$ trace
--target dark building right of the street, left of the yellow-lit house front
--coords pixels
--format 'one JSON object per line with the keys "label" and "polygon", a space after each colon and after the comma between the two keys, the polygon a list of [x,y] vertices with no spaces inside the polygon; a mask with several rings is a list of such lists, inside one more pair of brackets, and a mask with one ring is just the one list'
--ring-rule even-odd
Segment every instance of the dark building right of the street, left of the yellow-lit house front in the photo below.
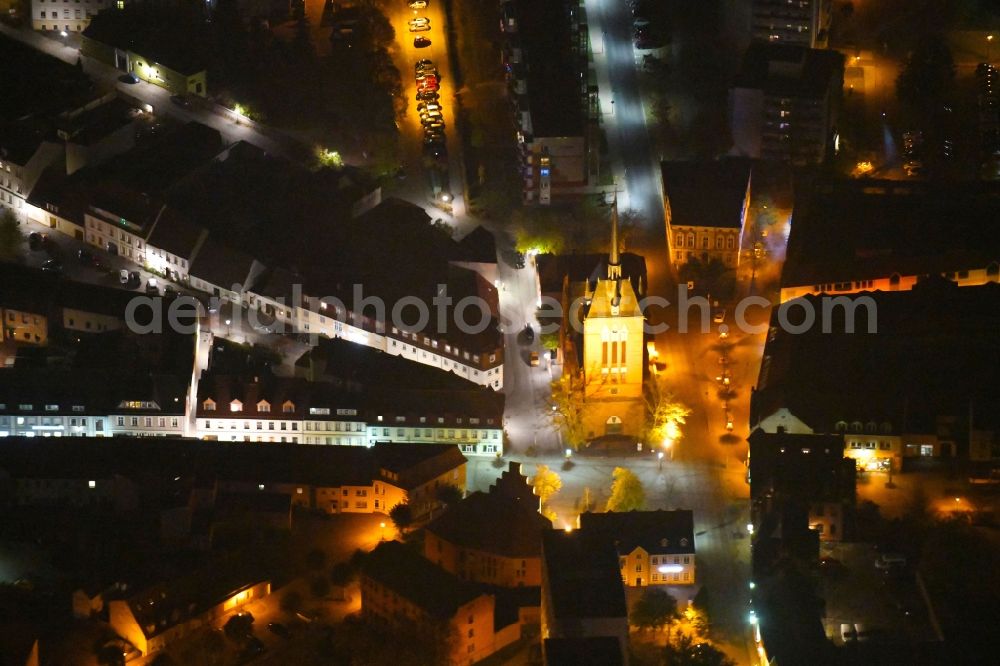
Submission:
{"label": "dark building right of the street, left of the yellow-lit house front", "polygon": [[841,541],[853,517],[855,462],[838,435],[750,433],[751,522],[794,505],[807,512],[822,541]]}

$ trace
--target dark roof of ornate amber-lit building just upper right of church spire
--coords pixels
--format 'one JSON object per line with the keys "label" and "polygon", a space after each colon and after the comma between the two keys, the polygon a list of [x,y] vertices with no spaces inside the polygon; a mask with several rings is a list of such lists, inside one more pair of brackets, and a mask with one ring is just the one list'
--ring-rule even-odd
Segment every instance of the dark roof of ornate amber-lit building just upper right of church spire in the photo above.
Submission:
{"label": "dark roof of ornate amber-lit building just upper right of church spire", "polygon": [[663,194],[672,225],[743,227],[750,189],[750,162],[662,162]]}

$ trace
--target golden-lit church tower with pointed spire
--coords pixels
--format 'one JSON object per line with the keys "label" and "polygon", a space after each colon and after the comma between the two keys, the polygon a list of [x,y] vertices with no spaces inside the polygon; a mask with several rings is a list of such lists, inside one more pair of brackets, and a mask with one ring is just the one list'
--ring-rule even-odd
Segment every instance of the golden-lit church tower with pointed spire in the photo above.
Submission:
{"label": "golden-lit church tower with pointed spire", "polygon": [[644,423],[642,310],[622,277],[618,202],[611,210],[606,277],[599,278],[583,320],[584,400],[592,436],[639,435]]}

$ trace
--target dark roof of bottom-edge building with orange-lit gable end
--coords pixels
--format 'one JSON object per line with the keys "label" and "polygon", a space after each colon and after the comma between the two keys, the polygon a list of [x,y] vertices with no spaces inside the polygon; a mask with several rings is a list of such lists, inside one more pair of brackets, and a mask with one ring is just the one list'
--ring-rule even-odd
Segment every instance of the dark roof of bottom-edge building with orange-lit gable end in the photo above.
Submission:
{"label": "dark roof of bottom-edge building with orange-lit gable end", "polygon": [[483,594],[478,586],[451,575],[398,541],[380,543],[365,558],[363,572],[442,620],[450,619],[460,607]]}

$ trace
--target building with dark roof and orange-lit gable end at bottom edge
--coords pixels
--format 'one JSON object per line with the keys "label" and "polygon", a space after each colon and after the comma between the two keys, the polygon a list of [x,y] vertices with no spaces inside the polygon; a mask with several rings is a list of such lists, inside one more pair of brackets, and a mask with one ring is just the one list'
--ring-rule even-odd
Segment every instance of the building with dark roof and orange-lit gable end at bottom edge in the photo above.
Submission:
{"label": "building with dark roof and orange-lit gable end at bottom edge", "polygon": [[[398,541],[378,545],[361,572],[361,613],[389,626],[405,625],[431,641],[447,641],[435,663],[474,664],[520,638],[495,627],[496,598],[458,579]],[[450,640],[449,640],[450,639]]]}

